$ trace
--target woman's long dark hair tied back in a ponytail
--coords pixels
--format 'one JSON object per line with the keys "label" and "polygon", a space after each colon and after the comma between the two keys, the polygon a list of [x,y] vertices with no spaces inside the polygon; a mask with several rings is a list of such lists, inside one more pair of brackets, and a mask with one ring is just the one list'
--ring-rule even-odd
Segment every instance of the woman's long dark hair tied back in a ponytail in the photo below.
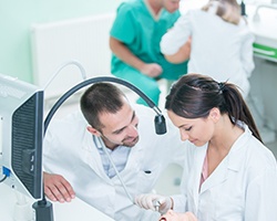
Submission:
{"label": "woman's long dark hair tied back in a ponytail", "polygon": [[234,84],[217,83],[201,74],[187,74],[173,84],[165,102],[166,109],[185,118],[205,118],[214,107],[222,114],[228,114],[234,125],[237,120],[244,122],[263,143],[249,108]]}

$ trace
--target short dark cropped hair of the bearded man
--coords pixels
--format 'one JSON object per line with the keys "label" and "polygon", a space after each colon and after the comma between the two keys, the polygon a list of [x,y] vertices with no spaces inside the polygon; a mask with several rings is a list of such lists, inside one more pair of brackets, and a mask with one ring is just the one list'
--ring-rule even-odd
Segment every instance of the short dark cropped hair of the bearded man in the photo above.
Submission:
{"label": "short dark cropped hair of the bearded man", "polygon": [[99,114],[115,114],[123,106],[123,92],[110,83],[96,83],[90,86],[81,97],[81,110],[86,122],[98,130],[104,125],[99,119]]}

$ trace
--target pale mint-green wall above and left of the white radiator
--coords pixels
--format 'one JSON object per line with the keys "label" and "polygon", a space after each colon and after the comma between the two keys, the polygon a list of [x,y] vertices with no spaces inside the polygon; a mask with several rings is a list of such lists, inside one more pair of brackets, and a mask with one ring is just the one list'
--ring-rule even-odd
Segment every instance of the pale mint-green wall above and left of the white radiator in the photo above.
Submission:
{"label": "pale mint-green wall above and left of the white radiator", "polygon": [[0,73],[32,83],[33,23],[113,12],[122,0],[0,0]]}

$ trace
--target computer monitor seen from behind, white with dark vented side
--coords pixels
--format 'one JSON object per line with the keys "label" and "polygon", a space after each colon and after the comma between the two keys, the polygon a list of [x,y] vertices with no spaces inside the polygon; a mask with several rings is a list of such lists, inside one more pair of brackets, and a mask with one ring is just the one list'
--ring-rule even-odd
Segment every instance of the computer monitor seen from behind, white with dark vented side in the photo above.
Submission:
{"label": "computer monitor seen from behind, white with dark vented side", "polygon": [[2,176],[7,176],[3,182],[40,199],[43,91],[0,74],[0,166]]}

